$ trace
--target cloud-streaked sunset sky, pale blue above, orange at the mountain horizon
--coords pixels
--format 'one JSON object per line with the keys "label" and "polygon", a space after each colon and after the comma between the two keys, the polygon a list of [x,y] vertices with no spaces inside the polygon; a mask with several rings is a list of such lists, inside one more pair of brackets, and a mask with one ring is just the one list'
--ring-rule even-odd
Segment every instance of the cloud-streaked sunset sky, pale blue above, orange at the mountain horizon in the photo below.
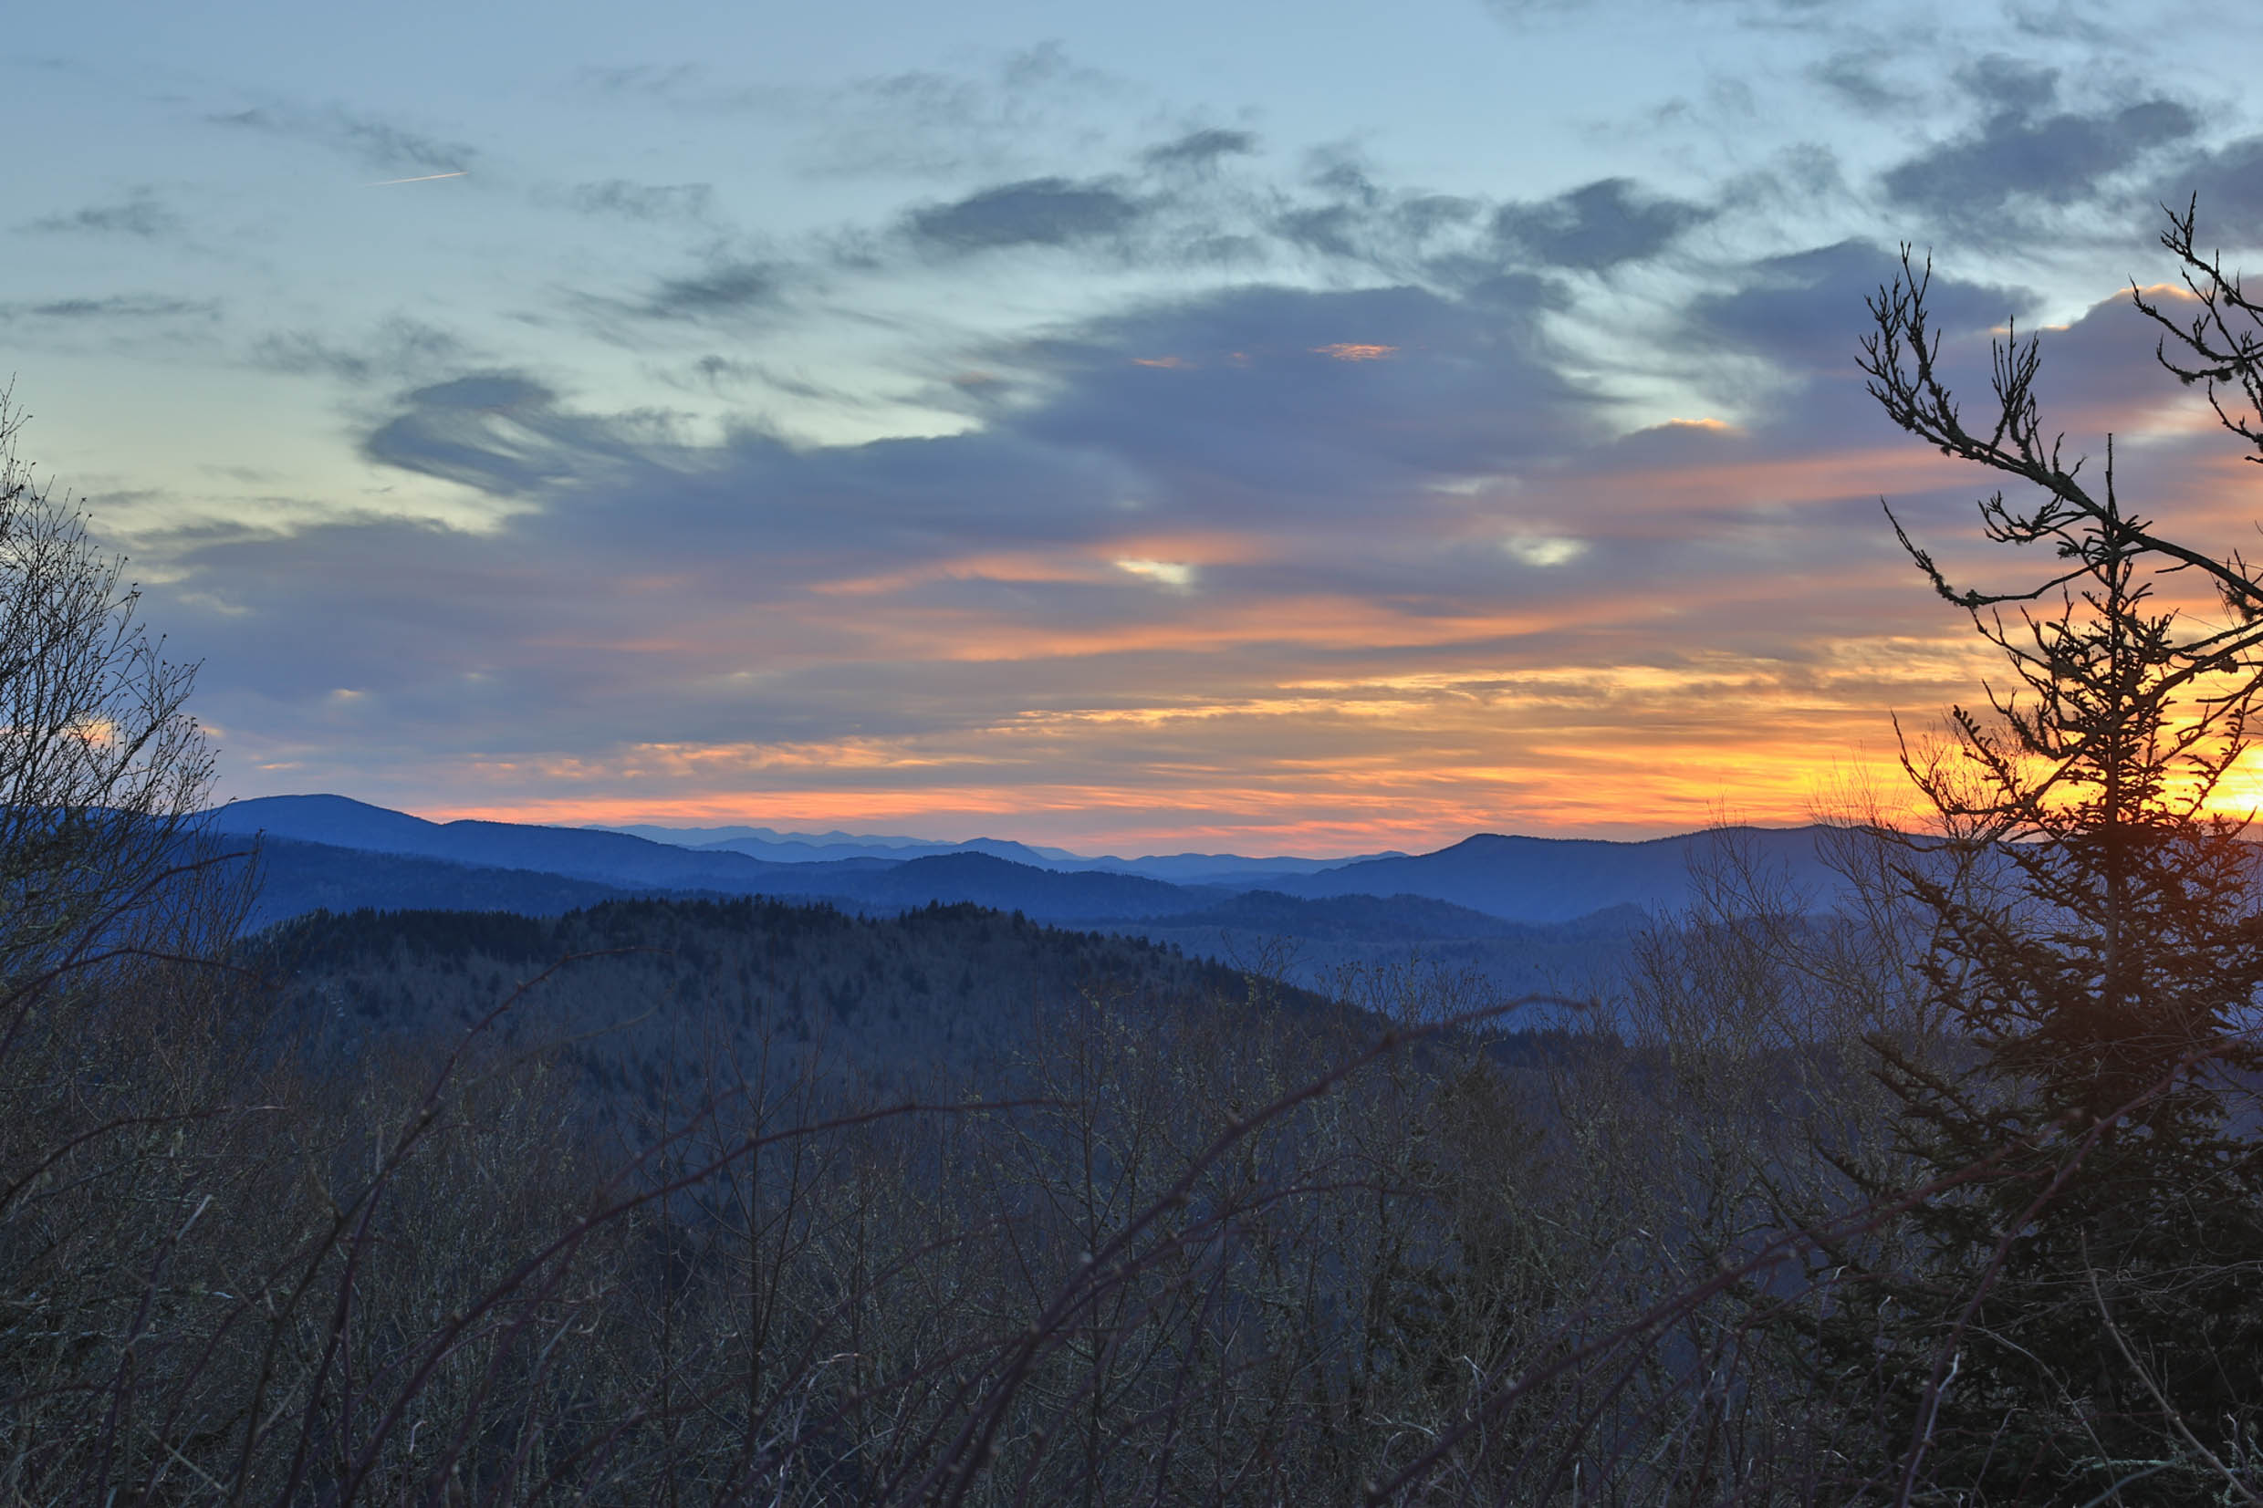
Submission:
{"label": "cloud-streaked sunset sky, pale blue above, orange at the mountain horizon", "polygon": [[[1989,660],[1951,369],[2200,545],[2161,203],[2247,7],[79,0],[9,23],[0,375],[229,798],[1082,852],[1901,800]],[[1985,391],[1973,391],[1976,402]]]}

